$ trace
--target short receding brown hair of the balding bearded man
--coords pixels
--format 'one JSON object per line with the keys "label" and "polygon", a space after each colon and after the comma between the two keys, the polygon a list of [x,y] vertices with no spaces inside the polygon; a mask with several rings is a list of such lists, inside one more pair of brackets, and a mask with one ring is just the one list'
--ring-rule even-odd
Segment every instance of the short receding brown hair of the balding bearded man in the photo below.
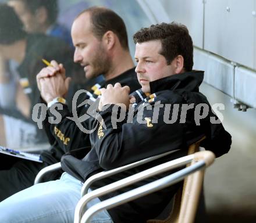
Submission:
{"label": "short receding brown hair of the balding bearded man", "polygon": [[93,33],[95,37],[101,39],[107,31],[112,31],[118,36],[123,49],[129,49],[126,26],[123,19],[111,9],[103,7],[91,7],[83,10],[83,13],[90,13]]}

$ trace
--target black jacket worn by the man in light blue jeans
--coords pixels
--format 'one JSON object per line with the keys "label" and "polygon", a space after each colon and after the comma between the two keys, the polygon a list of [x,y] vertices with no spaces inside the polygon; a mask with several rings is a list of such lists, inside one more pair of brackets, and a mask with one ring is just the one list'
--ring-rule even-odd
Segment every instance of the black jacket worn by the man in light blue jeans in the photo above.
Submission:
{"label": "black jacket worn by the man in light blue jeans", "polygon": [[[105,111],[99,112],[99,116],[102,117],[104,123],[99,123],[98,120],[94,120],[91,123],[92,129],[94,127],[97,128],[96,131],[90,134],[90,152],[88,152],[88,149],[88,154],[84,158],[79,152],[74,153],[77,158],[72,153],[63,156],[63,170],[84,181],[90,175],[101,170],[120,167],[169,150],[182,149],[167,158],[165,157],[142,167],[133,168],[95,182],[92,185],[92,188],[95,189],[155,166],[163,161],[184,156],[189,145],[198,141],[204,135],[206,139],[203,145],[206,149],[212,150],[216,156],[227,153],[230,149],[231,136],[224,130],[222,124],[212,124],[210,122],[211,117],[211,120],[215,120],[215,122],[218,119],[212,113],[207,98],[198,92],[203,76],[202,71],[191,71],[151,82],[151,92],[154,94],[136,105],[133,123],[122,121],[117,124],[116,128],[113,128],[111,123],[113,105]],[[175,104],[179,107],[176,110],[177,113],[175,113]],[[194,113],[200,111],[198,109],[201,106],[200,104],[205,107],[208,106],[209,113],[198,123],[198,117],[195,117]],[[182,106],[191,107],[191,109],[187,110],[186,115],[184,109],[182,110]],[[154,115],[154,109],[159,109],[159,115]],[[141,114],[143,118],[138,117]],[[173,121],[173,123],[168,121],[172,120],[172,116],[175,118],[175,114],[177,114],[177,121]],[[201,115],[201,113],[199,112],[196,115]],[[148,122],[144,121],[141,124],[141,121],[138,121],[145,120],[145,118]],[[166,124],[168,122],[172,124]],[[102,128],[103,124],[105,124],[106,130]],[[153,179],[164,177],[166,174],[168,173],[146,179],[133,186],[99,198],[102,200],[108,199],[118,195],[120,192],[151,182]],[[175,194],[178,186],[170,186],[133,202],[112,208],[108,210],[109,214],[114,222],[146,222],[147,219],[157,217],[169,202],[170,197]]]}

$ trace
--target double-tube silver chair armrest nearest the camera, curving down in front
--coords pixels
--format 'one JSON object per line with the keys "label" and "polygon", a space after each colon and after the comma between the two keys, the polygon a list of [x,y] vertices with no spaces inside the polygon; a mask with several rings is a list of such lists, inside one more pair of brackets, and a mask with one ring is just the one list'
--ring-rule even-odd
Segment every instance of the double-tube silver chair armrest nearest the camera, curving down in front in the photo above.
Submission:
{"label": "double-tube silver chair armrest nearest the camera, curving down in front", "polygon": [[[93,192],[84,196],[77,204],[77,207],[75,210],[75,216],[74,216],[74,223],[80,222],[80,219],[81,219],[82,223],[89,222],[92,215],[94,215],[98,211],[119,206],[120,204],[130,202],[131,200],[135,200],[141,196],[148,195],[150,193],[156,192],[157,190],[161,190],[170,185],[176,184],[177,182],[182,181],[185,177],[192,174],[193,172],[196,172],[199,170],[204,170],[205,167],[208,167],[209,165],[212,164],[214,159],[215,159],[214,153],[212,153],[210,151],[198,152],[195,154],[191,154],[189,156],[185,156],[185,157],[181,157],[176,160],[169,161],[164,164],[160,164],[160,165],[158,165],[156,167],[152,167],[146,171],[140,172],[138,174],[134,174],[131,177],[121,179],[120,181],[117,181],[115,183],[112,183],[112,184],[106,185],[102,188],[99,188],[97,190],[94,190]],[[184,164],[187,164],[192,160],[197,161],[197,162],[194,162],[191,164],[191,166],[186,167],[186,168],[184,168],[180,171],[177,171],[173,174],[170,174],[167,177],[163,177],[161,179],[158,179],[157,181],[140,186],[139,188],[130,190],[130,191],[122,193],[118,196],[111,197],[110,199],[104,200],[103,202],[95,204],[93,207],[90,207],[86,211],[86,213],[83,215],[82,218],[80,218],[81,209],[79,210],[79,208],[80,207],[83,208],[82,203],[88,202],[88,200],[90,200],[90,197],[94,198],[97,196],[102,196],[106,193],[112,192],[113,190],[117,190],[117,189],[123,188],[124,186],[133,184],[134,182],[140,181],[141,179],[151,177],[152,175],[159,174],[160,172],[165,172],[165,171],[171,170],[175,167],[183,166]],[[140,178],[140,179],[138,179],[138,178]],[[112,188],[112,189],[110,189],[110,188]],[[86,204],[84,204],[84,205],[86,205]]]}

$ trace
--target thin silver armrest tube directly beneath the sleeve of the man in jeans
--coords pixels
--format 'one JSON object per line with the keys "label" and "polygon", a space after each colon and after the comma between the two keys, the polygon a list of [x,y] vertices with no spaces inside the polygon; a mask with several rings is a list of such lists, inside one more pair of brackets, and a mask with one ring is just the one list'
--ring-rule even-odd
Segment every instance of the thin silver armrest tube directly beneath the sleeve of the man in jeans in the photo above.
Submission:
{"label": "thin silver armrest tube directly beneath the sleeve of the man in jeans", "polygon": [[151,162],[153,160],[157,160],[157,159],[162,158],[164,156],[167,156],[167,155],[169,155],[171,153],[175,153],[175,152],[177,152],[179,150],[180,149],[172,150],[172,151],[169,151],[169,152],[166,152],[166,153],[159,154],[157,156],[152,156],[152,157],[149,157],[149,158],[144,159],[144,160],[139,160],[137,162],[134,162],[134,163],[131,163],[131,164],[127,164],[126,166],[115,168],[113,170],[99,172],[98,174],[95,174],[95,175],[91,176],[90,178],[88,178],[86,180],[86,182],[84,182],[84,185],[81,188],[81,197],[86,195],[86,193],[88,192],[88,189],[91,186],[91,184],[93,184],[95,181],[98,181],[99,179],[110,177],[112,175],[118,174],[119,172],[123,172],[123,171],[129,170],[131,168],[143,165],[145,163],[149,163],[149,162]]}

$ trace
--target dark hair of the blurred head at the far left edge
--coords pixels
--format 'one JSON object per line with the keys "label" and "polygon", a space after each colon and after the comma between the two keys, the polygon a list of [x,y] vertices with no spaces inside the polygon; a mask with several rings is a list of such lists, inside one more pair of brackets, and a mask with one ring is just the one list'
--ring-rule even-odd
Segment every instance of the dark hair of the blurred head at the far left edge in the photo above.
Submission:
{"label": "dark hair of the blurred head at the far left edge", "polygon": [[26,38],[23,23],[15,13],[15,10],[0,3],[0,44],[13,44],[20,39]]}

